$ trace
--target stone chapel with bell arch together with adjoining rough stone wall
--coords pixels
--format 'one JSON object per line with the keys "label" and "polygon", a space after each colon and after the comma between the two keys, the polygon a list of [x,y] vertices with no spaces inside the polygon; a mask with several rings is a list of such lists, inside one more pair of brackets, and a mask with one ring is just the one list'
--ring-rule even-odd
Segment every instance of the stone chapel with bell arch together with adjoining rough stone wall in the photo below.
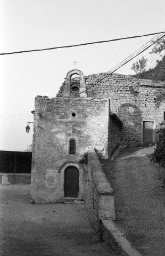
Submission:
{"label": "stone chapel with bell arch together with adjoining rough stone wall", "polygon": [[[77,75],[73,78],[73,75]],[[68,72],[56,98],[35,99],[31,197],[35,202],[85,199],[88,150],[108,158],[120,143],[155,142],[163,83],[106,73]]]}

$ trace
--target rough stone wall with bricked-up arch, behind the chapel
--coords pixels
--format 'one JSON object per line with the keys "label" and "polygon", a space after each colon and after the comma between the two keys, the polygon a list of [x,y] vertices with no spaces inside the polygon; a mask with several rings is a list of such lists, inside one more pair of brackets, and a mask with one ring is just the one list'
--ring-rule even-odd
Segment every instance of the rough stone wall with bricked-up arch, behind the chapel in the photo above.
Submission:
{"label": "rough stone wall with bricked-up arch, behind the chapel", "polygon": [[143,121],[152,120],[155,129],[163,121],[165,104],[156,108],[154,100],[164,90],[164,83],[119,74],[102,79],[105,75],[86,76],[88,97],[110,99],[110,111],[123,122],[121,141],[128,145],[142,144]]}

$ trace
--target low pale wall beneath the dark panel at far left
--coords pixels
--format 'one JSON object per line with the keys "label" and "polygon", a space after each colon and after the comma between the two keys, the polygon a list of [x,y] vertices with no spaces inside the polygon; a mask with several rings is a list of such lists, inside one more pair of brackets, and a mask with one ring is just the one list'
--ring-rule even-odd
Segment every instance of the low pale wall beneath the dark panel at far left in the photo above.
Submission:
{"label": "low pale wall beneath the dark panel at far left", "polygon": [[30,184],[30,173],[0,173],[0,184],[12,185],[12,184]]}

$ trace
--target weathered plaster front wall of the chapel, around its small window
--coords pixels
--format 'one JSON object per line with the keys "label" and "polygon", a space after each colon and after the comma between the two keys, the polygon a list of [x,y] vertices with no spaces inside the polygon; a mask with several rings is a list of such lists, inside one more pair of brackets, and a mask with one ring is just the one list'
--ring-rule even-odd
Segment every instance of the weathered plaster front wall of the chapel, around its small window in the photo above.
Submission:
{"label": "weathered plaster front wall of the chapel, around its small window", "polygon": [[[94,148],[108,157],[108,117],[108,99],[36,98],[31,172],[31,197],[36,202],[59,202],[63,164],[78,163]],[[69,155],[71,138],[76,140],[76,155]]]}

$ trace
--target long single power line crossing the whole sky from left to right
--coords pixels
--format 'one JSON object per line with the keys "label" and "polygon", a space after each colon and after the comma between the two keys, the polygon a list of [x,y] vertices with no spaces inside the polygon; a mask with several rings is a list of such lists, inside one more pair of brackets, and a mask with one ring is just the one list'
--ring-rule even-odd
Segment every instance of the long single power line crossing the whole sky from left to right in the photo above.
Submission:
{"label": "long single power line crossing the whole sky from left to right", "polygon": [[97,41],[97,42],[90,42],[90,43],[83,43],[83,44],[58,46],[58,47],[45,48],[45,49],[37,49],[37,50],[27,50],[27,51],[0,53],[0,55],[16,54],[16,53],[24,53],[24,52],[38,52],[38,51],[55,50],[55,49],[61,49],[61,48],[69,48],[69,47],[83,46],[83,45],[88,45],[88,44],[107,43],[107,42],[119,41],[119,40],[123,40],[123,39],[130,39],[130,38],[137,38],[137,37],[144,37],[144,36],[152,36],[152,35],[158,35],[158,34],[162,34],[162,32],[152,33],[152,34],[146,34],[146,35],[141,35],[141,36],[122,37],[122,38],[117,38],[117,39],[111,39],[111,40],[105,40],[105,41]]}

